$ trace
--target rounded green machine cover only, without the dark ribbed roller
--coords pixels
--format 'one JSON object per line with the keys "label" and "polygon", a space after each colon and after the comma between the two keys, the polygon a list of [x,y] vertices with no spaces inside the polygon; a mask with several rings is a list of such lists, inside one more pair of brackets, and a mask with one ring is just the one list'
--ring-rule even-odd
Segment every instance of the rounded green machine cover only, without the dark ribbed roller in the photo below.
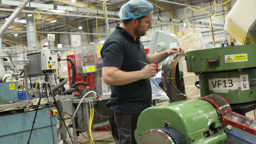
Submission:
{"label": "rounded green machine cover only, without the dark ribbed roller", "polygon": [[149,107],[138,118],[135,139],[139,142],[146,131],[163,128],[168,121],[169,127],[177,129],[187,143],[225,143],[226,135],[218,117],[216,109],[205,100],[182,100]]}

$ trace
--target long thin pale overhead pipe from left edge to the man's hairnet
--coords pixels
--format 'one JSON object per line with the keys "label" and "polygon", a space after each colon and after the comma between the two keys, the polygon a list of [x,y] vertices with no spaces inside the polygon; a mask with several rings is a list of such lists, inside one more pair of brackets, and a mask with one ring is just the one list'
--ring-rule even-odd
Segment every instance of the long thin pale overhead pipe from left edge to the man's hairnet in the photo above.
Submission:
{"label": "long thin pale overhead pipe from left edge to the man's hairnet", "polygon": [[[5,8],[0,8],[0,11],[14,11],[14,9],[5,9]],[[22,13],[34,13],[37,14],[36,11],[32,11],[32,10],[22,10],[20,11]],[[61,15],[61,16],[74,16],[74,17],[88,17],[88,18],[95,18],[97,17],[97,19],[104,19],[104,17],[100,17],[100,16],[88,16],[88,15],[75,15],[75,14],[61,14],[61,13],[51,13],[51,12],[45,12],[45,11],[38,11],[39,14],[45,14],[45,15]],[[112,18],[112,17],[108,17],[109,20],[120,20],[117,18]]]}

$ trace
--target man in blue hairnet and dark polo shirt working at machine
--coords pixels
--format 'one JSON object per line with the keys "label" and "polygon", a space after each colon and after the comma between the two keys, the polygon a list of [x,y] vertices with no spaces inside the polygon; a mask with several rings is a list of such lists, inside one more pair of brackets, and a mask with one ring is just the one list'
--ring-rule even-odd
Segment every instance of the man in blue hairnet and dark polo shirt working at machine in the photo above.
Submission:
{"label": "man in blue hairnet and dark polo shirt working at machine", "polygon": [[[156,64],[172,53],[184,52],[173,47],[154,55],[146,55],[139,37],[152,27],[153,5],[131,0],[120,11],[120,26],[109,35],[101,50],[102,77],[112,94],[109,123],[116,143],[134,144],[134,131],[139,114],[151,106],[149,78],[156,74]],[[147,65],[144,63],[148,63]]]}

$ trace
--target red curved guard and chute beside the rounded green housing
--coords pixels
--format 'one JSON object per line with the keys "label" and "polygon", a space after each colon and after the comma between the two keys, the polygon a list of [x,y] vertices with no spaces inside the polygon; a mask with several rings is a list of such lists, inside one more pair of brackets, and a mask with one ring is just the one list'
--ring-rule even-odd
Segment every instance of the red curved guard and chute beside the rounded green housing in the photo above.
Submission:
{"label": "red curved guard and chute beside the rounded green housing", "polygon": [[220,95],[210,94],[200,99],[208,101],[216,110],[218,110],[224,127],[229,124],[233,127],[244,130],[247,133],[256,135],[256,121],[252,118],[233,112],[228,101]]}

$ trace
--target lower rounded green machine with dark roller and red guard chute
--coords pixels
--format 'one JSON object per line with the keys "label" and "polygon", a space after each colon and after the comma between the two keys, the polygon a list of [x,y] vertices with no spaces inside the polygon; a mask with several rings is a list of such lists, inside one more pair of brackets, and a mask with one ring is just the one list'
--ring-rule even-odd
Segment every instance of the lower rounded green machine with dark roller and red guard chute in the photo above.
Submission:
{"label": "lower rounded green machine with dark roller and red guard chute", "polygon": [[[256,121],[232,112],[227,101],[216,94],[144,110],[138,119],[135,138],[139,144],[226,143],[227,124],[249,135],[240,135],[237,143],[255,142]],[[230,135],[235,133],[232,131]]]}

